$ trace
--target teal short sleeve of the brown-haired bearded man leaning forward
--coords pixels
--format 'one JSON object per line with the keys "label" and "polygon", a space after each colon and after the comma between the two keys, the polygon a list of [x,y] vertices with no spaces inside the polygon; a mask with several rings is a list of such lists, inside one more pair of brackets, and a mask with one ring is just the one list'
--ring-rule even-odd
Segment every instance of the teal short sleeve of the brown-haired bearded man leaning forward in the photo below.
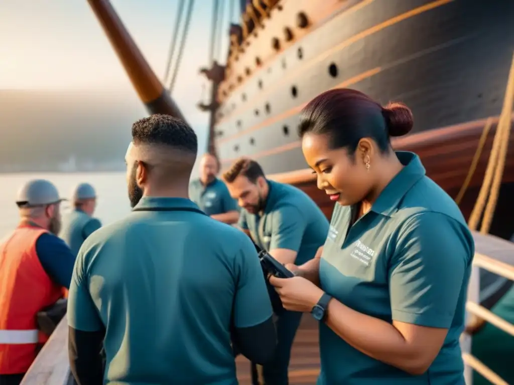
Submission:
{"label": "teal short sleeve of the brown-haired bearded man leaning forward", "polygon": [[305,219],[293,206],[282,206],[272,217],[269,249],[287,248],[298,253],[305,231]]}

